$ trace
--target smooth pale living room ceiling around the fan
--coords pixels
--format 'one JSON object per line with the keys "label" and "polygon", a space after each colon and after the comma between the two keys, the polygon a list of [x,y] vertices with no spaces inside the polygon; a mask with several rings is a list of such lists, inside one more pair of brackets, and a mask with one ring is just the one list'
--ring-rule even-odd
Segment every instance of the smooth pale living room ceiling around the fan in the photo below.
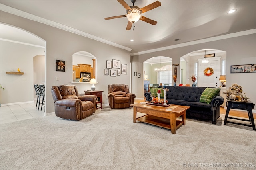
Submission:
{"label": "smooth pale living room ceiling around the fan", "polygon": [[[137,0],[142,8],[156,0]],[[126,30],[126,14],[117,0],[1,0],[2,4],[128,47],[131,53],[256,29],[256,0],[159,0],[161,6],[143,13],[156,25],[139,20]],[[125,2],[132,6],[130,0]],[[233,14],[228,10],[237,9]],[[2,35],[1,35],[2,36]],[[130,40],[133,39],[133,42]],[[174,41],[180,39],[179,41]]]}

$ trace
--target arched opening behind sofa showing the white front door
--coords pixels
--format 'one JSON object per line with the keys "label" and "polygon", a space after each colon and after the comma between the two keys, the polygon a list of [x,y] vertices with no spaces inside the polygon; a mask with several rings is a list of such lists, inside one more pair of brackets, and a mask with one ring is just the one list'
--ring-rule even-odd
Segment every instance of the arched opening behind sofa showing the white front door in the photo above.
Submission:
{"label": "arched opening behind sofa showing the white front door", "polygon": [[[208,60],[207,63],[204,60]],[[212,68],[214,74],[205,76],[207,68]],[[190,77],[194,74],[197,77],[196,86],[219,87],[220,75],[226,75],[226,51],[201,49],[190,52],[180,57],[180,73],[181,84],[192,85]]]}

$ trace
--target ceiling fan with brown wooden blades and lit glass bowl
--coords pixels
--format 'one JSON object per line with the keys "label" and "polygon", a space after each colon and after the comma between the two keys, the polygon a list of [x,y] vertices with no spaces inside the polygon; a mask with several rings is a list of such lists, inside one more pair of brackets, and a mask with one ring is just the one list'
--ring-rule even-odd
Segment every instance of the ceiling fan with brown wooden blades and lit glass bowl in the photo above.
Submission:
{"label": "ceiling fan with brown wooden blades and lit glass bowl", "polygon": [[136,2],[136,0],[131,0],[132,4],[133,4],[132,6],[129,6],[128,4],[126,4],[126,2],[124,0],[117,0],[117,1],[120,4],[122,4],[122,6],[124,6],[124,8],[126,9],[127,14],[120,15],[120,16],[107,17],[107,18],[105,18],[105,20],[127,17],[128,24],[127,24],[126,30],[130,30],[132,28],[132,24],[134,22],[137,22],[138,20],[142,20],[142,21],[145,21],[145,22],[150,23],[152,25],[156,25],[157,21],[146,18],[146,17],[142,16],[141,14],[144,13],[144,12],[147,12],[149,10],[152,10],[152,9],[158,7],[158,6],[161,6],[161,2],[156,1],[156,2],[153,2],[152,4],[144,6],[143,8],[139,8],[138,6],[134,6],[134,2]]}

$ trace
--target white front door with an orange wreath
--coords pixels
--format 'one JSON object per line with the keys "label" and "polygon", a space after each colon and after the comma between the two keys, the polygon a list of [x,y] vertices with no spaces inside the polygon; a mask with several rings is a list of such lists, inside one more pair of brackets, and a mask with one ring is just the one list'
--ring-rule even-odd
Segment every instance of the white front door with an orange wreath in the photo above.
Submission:
{"label": "white front door with an orange wreath", "polygon": [[[217,88],[219,86],[218,80],[219,80],[219,76],[220,76],[220,57],[212,57],[211,59],[209,59],[208,63],[202,63],[201,59],[198,59],[198,61],[199,61],[198,86],[199,87],[216,87]],[[212,70],[214,72],[210,76],[204,75],[204,70],[208,67],[212,68]]]}

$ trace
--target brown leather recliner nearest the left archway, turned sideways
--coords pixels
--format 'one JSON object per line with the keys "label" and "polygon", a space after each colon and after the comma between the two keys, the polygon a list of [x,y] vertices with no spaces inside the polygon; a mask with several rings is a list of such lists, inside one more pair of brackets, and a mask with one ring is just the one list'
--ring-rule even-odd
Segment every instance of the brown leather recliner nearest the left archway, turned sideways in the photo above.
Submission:
{"label": "brown leather recliner nearest the left archway, turned sideways", "polygon": [[52,86],[55,114],[71,120],[84,119],[96,111],[95,95],[79,96],[74,85]]}

